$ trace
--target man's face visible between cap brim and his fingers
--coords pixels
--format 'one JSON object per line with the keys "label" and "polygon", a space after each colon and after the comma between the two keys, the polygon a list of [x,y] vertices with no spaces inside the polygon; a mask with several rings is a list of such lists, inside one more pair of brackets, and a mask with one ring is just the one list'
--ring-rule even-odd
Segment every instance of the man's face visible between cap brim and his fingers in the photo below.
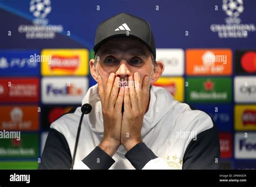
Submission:
{"label": "man's face visible between cap brim and his fingers", "polygon": [[[118,37],[107,40],[96,54],[96,74],[100,75],[105,87],[110,73],[116,74],[122,81],[140,73],[143,78],[152,76],[153,64],[149,48],[131,37]],[[151,80],[151,78],[150,78]]]}

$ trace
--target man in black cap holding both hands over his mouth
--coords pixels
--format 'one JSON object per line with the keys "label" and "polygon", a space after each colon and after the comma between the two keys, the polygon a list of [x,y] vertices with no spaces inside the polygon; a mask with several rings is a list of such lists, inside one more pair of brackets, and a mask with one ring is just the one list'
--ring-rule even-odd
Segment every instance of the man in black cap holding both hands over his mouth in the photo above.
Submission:
{"label": "man in black cap holding both hands over his mouth", "polygon": [[[97,81],[82,104],[73,169],[218,169],[219,139],[211,118],[152,87],[164,71],[147,21],[120,13],[96,32]],[[80,107],[51,124],[39,169],[70,169]]]}

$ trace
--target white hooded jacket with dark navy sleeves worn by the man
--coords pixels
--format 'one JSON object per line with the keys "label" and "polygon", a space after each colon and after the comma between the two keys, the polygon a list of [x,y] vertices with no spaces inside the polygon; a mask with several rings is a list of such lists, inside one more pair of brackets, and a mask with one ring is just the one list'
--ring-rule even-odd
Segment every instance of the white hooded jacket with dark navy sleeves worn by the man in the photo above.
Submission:
{"label": "white hooded jacket with dark navy sleeves worn by the man", "polygon": [[[83,118],[74,169],[219,168],[219,138],[211,117],[179,103],[163,88],[151,88],[143,143],[127,154],[120,146],[112,158],[98,147],[104,126],[97,84],[87,91],[85,103],[92,111]],[[39,169],[70,169],[81,114],[77,107],[51,124]]]}

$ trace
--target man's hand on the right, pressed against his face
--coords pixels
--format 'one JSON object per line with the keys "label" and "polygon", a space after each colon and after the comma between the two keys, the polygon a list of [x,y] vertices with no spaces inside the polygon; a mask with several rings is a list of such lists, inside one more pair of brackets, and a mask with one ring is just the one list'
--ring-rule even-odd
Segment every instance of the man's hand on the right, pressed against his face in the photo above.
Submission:
{"label": "man's hand on the right, pressed against his face", "polygon": [[142,81],[137,72],[134,74],[134,78],[129,77],[129,82],[131,81],[134,81],[134,84],[129,83],[129,88],[125,87],[121,132],[121,143],[127,151],[142,142],[140,133],[150,97],[148,76],[145,76]]}

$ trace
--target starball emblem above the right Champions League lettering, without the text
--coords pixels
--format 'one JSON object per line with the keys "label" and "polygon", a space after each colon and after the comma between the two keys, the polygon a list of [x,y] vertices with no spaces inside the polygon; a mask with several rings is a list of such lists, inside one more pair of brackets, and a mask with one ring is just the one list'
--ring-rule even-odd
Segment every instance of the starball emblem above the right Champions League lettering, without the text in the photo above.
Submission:
{"label": "starball emblem above the right Champions League lettering, without the text", "polygon": [[244,11],[242,0],[223,0],[222,9],[228,16],[228,18],[225,19],[227,24],[241,23],[241,19],[238,18],[238,16]]}

